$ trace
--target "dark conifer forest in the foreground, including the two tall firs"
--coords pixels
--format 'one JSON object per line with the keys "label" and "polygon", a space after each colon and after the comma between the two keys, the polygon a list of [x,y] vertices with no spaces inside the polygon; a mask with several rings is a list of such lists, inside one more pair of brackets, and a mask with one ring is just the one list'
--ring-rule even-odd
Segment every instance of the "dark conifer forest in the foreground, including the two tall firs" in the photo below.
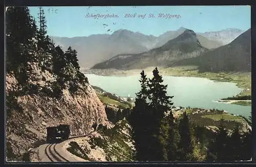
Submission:
{"label": "dark conifer forest in the foreground, including the two tall firs", "polygon": [[191,113],[186,111],[180,117],[174,117],[172,99],[175,97],[167,96],[167,85],[162,84],[158,69],[153,70],[153,78],[148,78],[142,70],[139,81],[141,90],[128,119],[133,129],[136,160],[233,161],[251,158],[251,131],[242,132],[240,123],[233,122],[233,128],[228,129],[227,121],[221,119],[217,128],[207,129],[207,123],[198,125],[200,119],[192,121]]}

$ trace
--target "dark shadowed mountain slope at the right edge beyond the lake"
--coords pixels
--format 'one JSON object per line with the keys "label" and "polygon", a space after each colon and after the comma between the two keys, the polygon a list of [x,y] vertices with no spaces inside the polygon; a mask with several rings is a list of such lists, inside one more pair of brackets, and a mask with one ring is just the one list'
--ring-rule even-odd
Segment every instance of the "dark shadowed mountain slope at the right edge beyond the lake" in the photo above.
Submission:
{"label": "dark shadowed mountain slope at the right edge beyond the lake", "polygon": [[197,65],[199,71],[251,71],[251,30],[232,42],[199,57],[172,62],[171,66]]}

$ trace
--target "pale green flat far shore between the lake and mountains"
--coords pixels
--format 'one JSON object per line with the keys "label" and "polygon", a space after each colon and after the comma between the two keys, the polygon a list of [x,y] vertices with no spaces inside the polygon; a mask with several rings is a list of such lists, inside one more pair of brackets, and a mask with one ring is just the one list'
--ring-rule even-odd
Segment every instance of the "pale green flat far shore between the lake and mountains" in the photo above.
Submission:
{"label": "pale green flat far shore between the lake and mountains", "polygon": [[[151,74],[155,67],[147,67],[143,69],[145,74]],[[250,73],[199,73],[196,66],[179,66],[163,68],[159,67],[159,72],[162,76],[173,76],[173,77],[195,77],[195,78],[206,78],[215,82],[231,82],[236,84],[239,88],[243,89],[235,97],[240,96],[251,96],[251,77]],[[118,69],[87,69],[83,73],[95,74],[99,76],[117,76],[125,77],[140,74],[142,69],[129,69],[129,70],[118,70]],[[240,79],[239,77],[242,77]],[[247,81],[248,80],[248,81]],[[223,99],[222,99],[223,100]],[[230,99],[234,100],[234,99]],[[234,102],[237,105],[251,106],[250,103]],[[232,103],[230,103],[232,104]]]}

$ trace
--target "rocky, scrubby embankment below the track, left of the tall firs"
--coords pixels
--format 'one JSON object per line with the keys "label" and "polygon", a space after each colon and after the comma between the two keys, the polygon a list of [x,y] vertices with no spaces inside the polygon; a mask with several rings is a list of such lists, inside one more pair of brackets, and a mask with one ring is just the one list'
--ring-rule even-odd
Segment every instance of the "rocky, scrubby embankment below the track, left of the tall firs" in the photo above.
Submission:
{"label": "rocky, scrubby embankment below the track, left of the tall firs", "polygon": [[98,132],[76,138],[64,147],[86,161],[133,161],[135,148],[131,130],[123,119],[112,129],[100,127]]}

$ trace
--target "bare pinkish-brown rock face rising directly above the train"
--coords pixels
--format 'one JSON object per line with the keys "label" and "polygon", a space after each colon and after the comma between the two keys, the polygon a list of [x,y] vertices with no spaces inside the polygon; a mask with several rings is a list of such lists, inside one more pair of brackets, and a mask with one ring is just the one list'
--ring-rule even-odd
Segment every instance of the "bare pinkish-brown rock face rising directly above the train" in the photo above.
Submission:
{"label": "bare pinkish-brown rock face rising directly above the train", "polygon": [[[49,80],[52,76],[47,78]],[[39,82],[45,84],[45,81]],[[29,148],[43,144],[47,134],[46,127],[69,124],[71,135],[81,135],[91,132],[94,123],[110,125],[103,104],[89,84],[75,96],[71,96],[67,89],[62,90],[61,99],[38,94],[10,96],[10,93],[17,90],[15,77],[7,74],[6,93],[10,99],[7,99],[6,106],[6,138],[7,157],[11,159],[20,160]]]}

